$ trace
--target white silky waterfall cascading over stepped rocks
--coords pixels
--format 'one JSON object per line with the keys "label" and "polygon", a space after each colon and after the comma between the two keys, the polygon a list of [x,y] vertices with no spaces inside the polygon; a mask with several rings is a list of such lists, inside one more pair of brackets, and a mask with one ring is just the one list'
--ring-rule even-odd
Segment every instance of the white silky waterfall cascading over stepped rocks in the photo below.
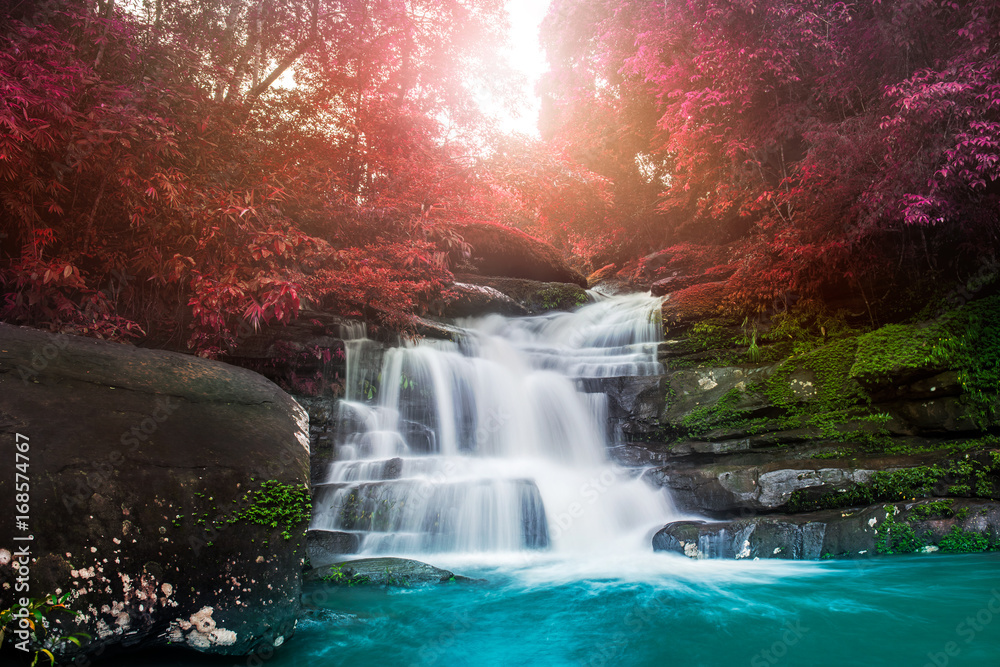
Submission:
{"label": "white silky waterfall cascading over stepped rocks", "polygon": [[350,341],[338,460],[312,528],[359,533],[365,554],[648,550],[669,500],[608,460],[607,397],[581,386],[662,372],[660,303],[493,315],[458,342]]}

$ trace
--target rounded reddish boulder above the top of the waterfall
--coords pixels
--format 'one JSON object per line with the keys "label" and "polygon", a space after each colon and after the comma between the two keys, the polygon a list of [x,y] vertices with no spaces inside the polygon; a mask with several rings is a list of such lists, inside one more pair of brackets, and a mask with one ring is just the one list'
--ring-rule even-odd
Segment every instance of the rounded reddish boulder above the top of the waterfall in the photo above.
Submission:
{"label": "rounded reddish boulder above the top of the waterfall", "polygon": [[491,223],[465,223],[456,231],[471,247],[471,256],[454,258],[483,276],[526,278],[587,286],[587,279],[548,243],[524,232]]}

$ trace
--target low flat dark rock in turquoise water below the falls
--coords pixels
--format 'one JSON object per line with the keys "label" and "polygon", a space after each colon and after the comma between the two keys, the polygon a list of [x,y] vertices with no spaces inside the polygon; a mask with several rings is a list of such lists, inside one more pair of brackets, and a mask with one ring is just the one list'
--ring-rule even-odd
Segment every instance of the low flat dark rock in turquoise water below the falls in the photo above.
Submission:
{"label": "low flat dark rock in turquoise water below the falls", "polygon": [[407,558],[362,558],[319,567],[305,574],[309,583],[409,587],[476,581],[448,570]]}

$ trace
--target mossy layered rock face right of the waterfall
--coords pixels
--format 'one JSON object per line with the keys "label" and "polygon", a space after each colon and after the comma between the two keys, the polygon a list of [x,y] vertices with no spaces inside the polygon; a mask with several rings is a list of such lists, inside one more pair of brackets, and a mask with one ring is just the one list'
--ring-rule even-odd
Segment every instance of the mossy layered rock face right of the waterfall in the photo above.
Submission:
{"label": "mossy layered rock face right of the waterfall", "polygon": [[[740,325],[720,310],[726,289],[705,282],[664,301],[662,375],[584,382],[608,394],[610,427],[623,436],[614,460],[647,468],[645,479],[668,489],[679,510],[723,522],[671,524],[657,548],[731,558],[749,540],[759,558],[856,555],[874,548],[865,522],[884,503],[981,503],[972,509],[995,515],[995,352],[944,361],[932,350],[990,340],[983,330],[994,324],[980,322],[1000,312],[1000,298],[972,302],[972,316],[950,320],[870,331],[838,315],[806,331],[789,326],[790,316]],[[967,322],[968,333],[955,322]],[[967,389],[974,383],[982,389]],[[831,513],[815,514],[822,511]],[[953,514],[959,533],[950,536],[906,514],[920,539],[892,550],[1000,548],[993,519]]]}

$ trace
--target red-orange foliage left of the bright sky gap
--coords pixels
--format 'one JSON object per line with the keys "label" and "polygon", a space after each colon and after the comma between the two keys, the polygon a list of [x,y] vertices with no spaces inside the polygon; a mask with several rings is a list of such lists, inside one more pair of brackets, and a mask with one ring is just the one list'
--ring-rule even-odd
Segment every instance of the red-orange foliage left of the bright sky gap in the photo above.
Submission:
{"label": "red-orange foliage left of the bright sky gap", "polygon": [[[18,5],[0,22],[0,318],[208,356],[304,302],[408,327],[480,207],[467,75],[495,60],[501,11]],[[297,86],[270,87],[293,64]]]}

